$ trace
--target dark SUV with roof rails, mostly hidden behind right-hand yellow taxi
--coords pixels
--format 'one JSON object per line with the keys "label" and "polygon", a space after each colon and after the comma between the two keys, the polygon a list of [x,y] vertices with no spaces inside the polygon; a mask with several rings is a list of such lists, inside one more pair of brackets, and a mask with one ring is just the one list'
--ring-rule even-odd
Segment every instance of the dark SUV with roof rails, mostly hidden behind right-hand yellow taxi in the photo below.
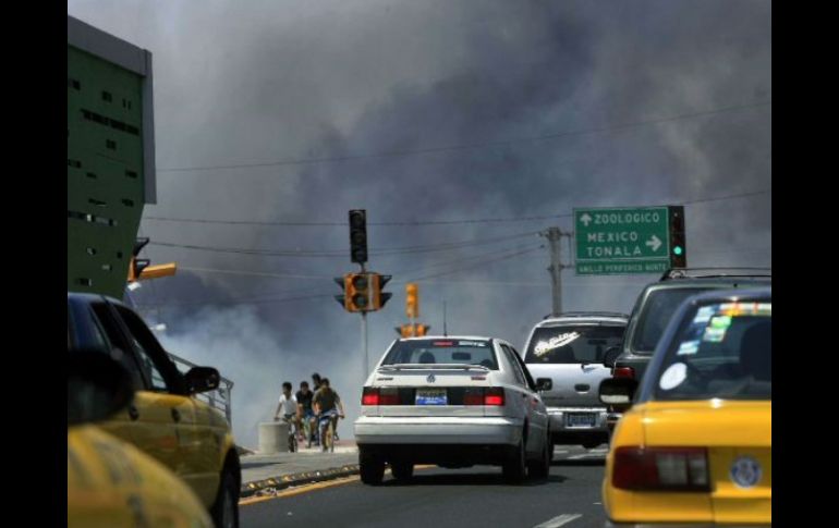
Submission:
{"label": "dark SUV with roof rails, mostly hidden behind right-hand yellow taxi", "polygon": [[[691,295],[732,287],[771,286],[771,270],[762,268],[679,268],[665,272],[658,282],[647,284],[630,315],[620,353],[606,355],[604,365],[615,378],[639,382],[653,356],[670,317]],[[613,359],[617,355],[617,359]],[[610,417],[613,425],[618,417]]]}

